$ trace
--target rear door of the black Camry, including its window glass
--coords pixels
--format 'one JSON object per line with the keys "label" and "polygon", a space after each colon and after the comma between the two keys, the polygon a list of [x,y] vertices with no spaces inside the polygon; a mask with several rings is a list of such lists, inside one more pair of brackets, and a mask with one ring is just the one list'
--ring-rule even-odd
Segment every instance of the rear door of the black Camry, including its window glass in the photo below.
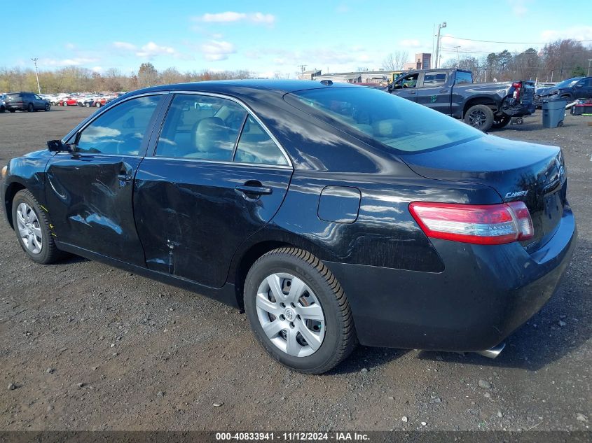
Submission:
{"label": "rear door of the black Camry, including its window glass", "polygon": [[134,195],[146,266],[220,288],[238,246],[280,208],[288,157],[243,106],[207,94],[176,94],[152,144]]}

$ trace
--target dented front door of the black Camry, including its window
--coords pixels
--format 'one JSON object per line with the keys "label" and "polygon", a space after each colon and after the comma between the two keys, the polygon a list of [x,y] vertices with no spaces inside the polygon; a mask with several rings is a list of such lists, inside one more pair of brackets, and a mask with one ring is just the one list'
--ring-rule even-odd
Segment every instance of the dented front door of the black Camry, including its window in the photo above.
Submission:
{"label": "dented front door of the black Camry, including its window", "polygon": [[132,211],[133,180],[162,94],[123,101],[76,133],[73,152],[46,167],[56,241],[144,266]]}

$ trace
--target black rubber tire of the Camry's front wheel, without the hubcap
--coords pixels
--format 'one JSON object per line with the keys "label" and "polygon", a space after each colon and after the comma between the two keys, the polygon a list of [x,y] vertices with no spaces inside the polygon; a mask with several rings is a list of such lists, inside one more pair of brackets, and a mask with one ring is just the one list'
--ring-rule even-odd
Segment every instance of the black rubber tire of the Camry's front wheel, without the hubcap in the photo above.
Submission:
{"label": "black rubber tire of the Camry's front wheel, without the hubcap", "polygon": [[[32,253],[32,251],[29,251],[19,234],[17,209],[21,203],[27,204],[32,209],[32,211],[34,211],[38,220],[39,229],[41,230],[41,251],[39,253]],[[46,211],[41,209],[41,206],[32,193],[29,192],[29,190],[23,189],[15,194],[13,199],[13,226],[15,228],[20,247],[23,251],[25,251],[27,257],[29,257],[34,262],[41,263],[41,265],[48,265],[49,263],[53,263],[62,258],[62,251],[59,251],[55,246],[48,215]]]}

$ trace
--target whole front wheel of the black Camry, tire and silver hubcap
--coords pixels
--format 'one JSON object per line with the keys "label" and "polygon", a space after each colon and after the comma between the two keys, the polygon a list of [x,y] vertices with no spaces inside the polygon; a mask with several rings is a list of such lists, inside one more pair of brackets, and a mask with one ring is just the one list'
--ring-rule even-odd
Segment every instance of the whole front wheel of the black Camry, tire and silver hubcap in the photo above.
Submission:
{"label": "whole front wheel of the black Camry, tire and silver hubcap", "polygon": [[34,262],[47,265],[62,256],[53,241],[47,213],[29,190],[20,190],[13,199],[13,227],[20,247]]}

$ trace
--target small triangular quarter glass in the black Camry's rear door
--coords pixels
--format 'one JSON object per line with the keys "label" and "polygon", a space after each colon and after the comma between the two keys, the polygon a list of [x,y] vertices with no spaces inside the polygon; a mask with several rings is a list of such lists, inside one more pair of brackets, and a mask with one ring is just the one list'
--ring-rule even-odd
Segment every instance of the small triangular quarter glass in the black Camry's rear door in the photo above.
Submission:
{"label": "small triangular quarter glass in the black Camry's rear door", "polygon": [[238,139],[235,162],[258,164],[288,164],[286,157],[265,129],[249,115]]}

